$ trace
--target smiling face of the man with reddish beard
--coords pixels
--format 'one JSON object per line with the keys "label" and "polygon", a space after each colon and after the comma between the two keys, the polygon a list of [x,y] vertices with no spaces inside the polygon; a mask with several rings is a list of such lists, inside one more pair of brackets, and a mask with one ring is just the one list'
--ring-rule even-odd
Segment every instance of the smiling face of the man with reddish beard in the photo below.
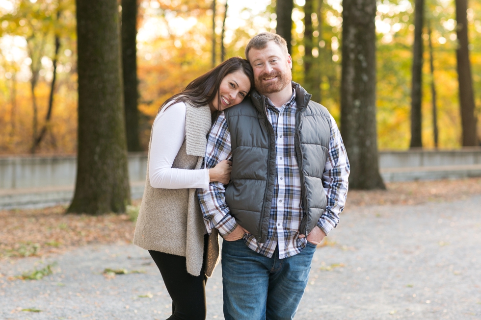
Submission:
{"label": "smiling face of the man with reddish beard", "polygon": [[248,59],[254,69],[256,90],[263,95],[276,93],[291,86],[291,56],[273,41],[264,49],[250,49]]}

